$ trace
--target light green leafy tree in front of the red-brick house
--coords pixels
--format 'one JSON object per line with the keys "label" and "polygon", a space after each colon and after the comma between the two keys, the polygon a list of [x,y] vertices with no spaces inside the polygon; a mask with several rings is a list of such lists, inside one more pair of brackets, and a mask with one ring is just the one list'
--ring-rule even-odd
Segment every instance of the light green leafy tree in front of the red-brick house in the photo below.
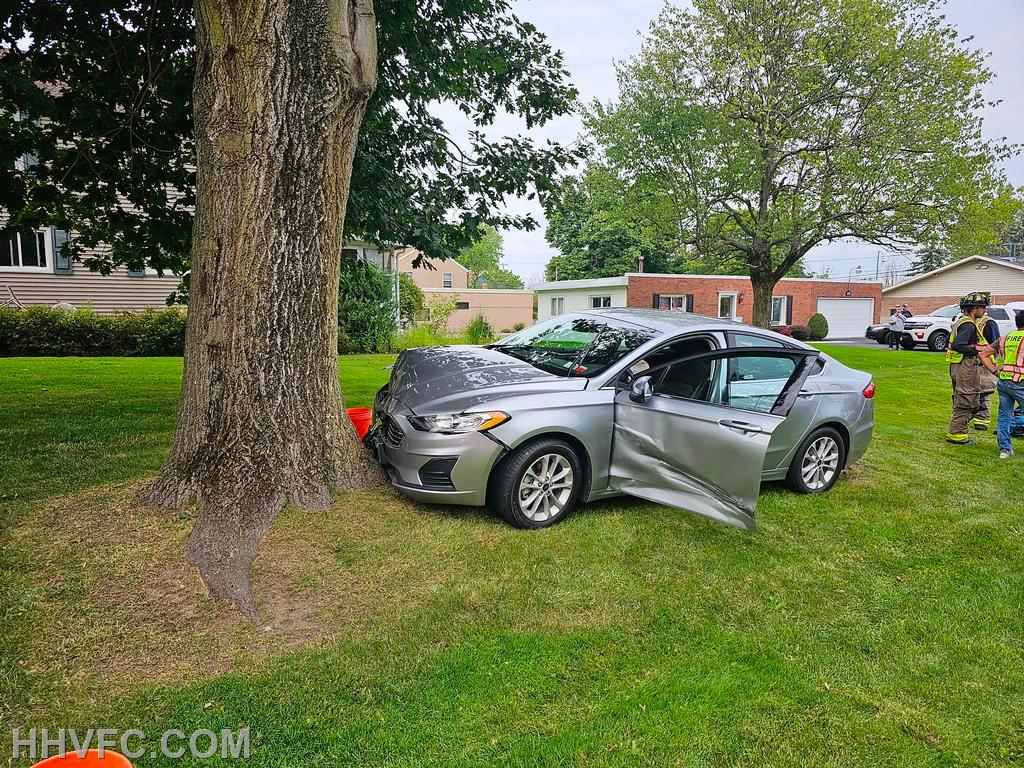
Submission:
{"label": "light green leafy tree in front of the red-brick house", "polygon": [[587,125],[616,173],[679,211],[686,243],[737,259],[769,322],[815,246],[940,241],[998,185],[981,138],[982,53],[939,0],[667,6]]}

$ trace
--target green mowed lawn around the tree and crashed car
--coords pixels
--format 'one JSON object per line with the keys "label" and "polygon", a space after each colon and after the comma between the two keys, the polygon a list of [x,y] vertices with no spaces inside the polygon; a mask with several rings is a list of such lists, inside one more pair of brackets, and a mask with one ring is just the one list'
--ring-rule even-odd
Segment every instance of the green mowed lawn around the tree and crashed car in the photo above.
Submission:
{"label": "green mowed lawn around the tree and crashed car", "polygon": [[[249,726],[260,766],[1024,763],[1020,466],[942,441],[939,355],[829,352],[874,374],[876,439],[827,496],[765,488],[754,535],[343,495],[264,543],[269,629],[204,597],[191,512],[134,504],[178,364],[0,360],[0,716]],[[342,361],[347,404],[381,365]]]}

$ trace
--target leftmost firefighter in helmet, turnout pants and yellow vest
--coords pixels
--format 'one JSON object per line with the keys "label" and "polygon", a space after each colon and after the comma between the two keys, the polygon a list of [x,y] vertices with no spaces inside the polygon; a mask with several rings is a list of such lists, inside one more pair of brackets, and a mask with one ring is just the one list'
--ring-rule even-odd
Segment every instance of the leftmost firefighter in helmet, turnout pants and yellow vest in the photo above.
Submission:
{"label": "leftmost firefighter in helmet, turnout pants and yellow vest", "polygon": [[988,307],[988,295],[969,293],[961,299],[961,310],[964,312],[953,324],[949,334],[949,346],[946,349],[946,361],[949,364],[949,380],[953,387],[952,417],[949,420],[949,430],[946,440],[954,445],[972,445],[974,441],[968,436],[967,430],[978,411],[978,400],[981,395],[981,357],[978,350],[988,346],[982,334],[978,321]]}

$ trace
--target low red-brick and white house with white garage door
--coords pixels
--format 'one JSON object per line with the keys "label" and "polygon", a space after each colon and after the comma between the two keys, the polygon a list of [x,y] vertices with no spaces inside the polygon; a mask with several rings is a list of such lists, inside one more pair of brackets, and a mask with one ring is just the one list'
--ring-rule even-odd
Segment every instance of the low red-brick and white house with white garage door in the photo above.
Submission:
{"label": "low red-brick and white house with white garage door", "polygon": [[[729,274],[651,274],[543,283],[537,292],[538,319],[597,307],[647,307],[751,322],[750,278]],[[828,321],[828,338],[862,336],[877,323],[882,284],[816,278],[786,278],[775,286],[771,322],[805,326],[815,312]]]}

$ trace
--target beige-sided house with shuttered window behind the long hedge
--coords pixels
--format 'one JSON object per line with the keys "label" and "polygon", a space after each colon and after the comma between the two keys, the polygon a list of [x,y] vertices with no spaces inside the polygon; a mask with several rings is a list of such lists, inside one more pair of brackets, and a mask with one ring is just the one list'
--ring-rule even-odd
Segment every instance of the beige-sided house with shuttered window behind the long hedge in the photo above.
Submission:
{"label": "beige-sided house with shuttered window behind the long hedge", "polygon": [[[165,306],[178,287],[177,275],[160,276],[154,269],[134,271],[120,266],[110,274],[93,272],[60,256],[60,245],[68,237],[62,229],[46,227],[0,239],[0,305],[91,306],[101,314],[112,314]],[[83,255],[99,255],[104,248],[85,249]],[[391,266],[389,251],[361,241],[345,243],[342,255],[384,269]]]}

